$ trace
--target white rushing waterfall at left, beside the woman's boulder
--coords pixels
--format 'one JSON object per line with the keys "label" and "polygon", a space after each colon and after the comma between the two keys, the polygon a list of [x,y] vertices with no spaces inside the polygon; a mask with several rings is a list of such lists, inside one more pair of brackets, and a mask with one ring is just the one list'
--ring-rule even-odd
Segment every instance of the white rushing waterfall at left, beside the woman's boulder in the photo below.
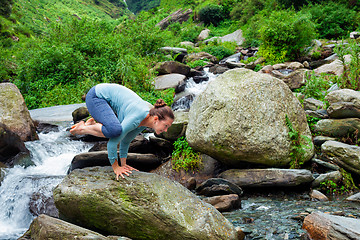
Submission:
{"label": "white rushing waterfall at left, beside the woman's boulder", "polygon": [[29,228],[34,219],[29,210],[32,195],[51,197],[52,189],[66,175],[73,157],[91,147],[71,141],[69,134],[65,126],[59,132],[40,133],[40,140],[25,143],[34,165],[5,170],[0,186],[0,240],[17,239]]}

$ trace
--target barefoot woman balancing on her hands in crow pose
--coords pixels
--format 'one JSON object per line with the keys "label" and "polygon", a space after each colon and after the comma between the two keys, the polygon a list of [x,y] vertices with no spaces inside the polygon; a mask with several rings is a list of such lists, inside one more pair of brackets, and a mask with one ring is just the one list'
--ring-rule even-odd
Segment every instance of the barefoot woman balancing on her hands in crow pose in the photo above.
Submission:
{"label": "barefoot woman balancing on her hands in crow pose", "polygon": [[[109,138],[108,158],[116,174],[129,176],[136,170],[126,164],[130,142],[146,127],[157,134],[166,132],[174,121],[174,114],[162,99],[152,107],[132,90],[111,83],[101,83],[86,94],[86,106],[92,118],[72,126],[71,134],[90,134]],[[117,146],[120,143],[120,165]],[[136,170],[137,171],[137,170]]]}

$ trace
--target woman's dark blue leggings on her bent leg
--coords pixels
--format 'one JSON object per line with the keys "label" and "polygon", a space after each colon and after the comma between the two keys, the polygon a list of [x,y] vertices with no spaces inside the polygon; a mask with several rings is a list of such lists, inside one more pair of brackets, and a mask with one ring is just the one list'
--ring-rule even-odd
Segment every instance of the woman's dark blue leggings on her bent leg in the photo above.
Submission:
{"label": "woman's dark blue leggings on her bent leg", "polygon": [[105,137],[114,138],[120,136],[122,127],[119,119],[109,103],[96,96],[95,87],[92,87],[86,94],[85,101],[90,115],[103,125],[101,131]]}

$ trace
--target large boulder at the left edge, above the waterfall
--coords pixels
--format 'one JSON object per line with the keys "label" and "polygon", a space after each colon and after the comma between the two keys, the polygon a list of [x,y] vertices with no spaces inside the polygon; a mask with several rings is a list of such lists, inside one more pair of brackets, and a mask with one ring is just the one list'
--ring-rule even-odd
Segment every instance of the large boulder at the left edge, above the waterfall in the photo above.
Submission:
{"label": "large boulder at the left edge, above the waterfall", "polygon": [[16,85],[0,84],[0,102],[1,123],[19,135],[22,141],[39,139],[24,98]]}

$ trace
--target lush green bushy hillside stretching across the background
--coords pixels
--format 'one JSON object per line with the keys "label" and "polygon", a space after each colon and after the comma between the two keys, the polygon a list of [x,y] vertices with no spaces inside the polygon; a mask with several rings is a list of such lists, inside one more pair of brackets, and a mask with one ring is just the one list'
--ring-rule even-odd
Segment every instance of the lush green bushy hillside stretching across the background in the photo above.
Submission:
{"label": "lush green bushy hillside stretching across the background", "polygon": [[[196,42],[205,27],[209,37],[242,29],[244,47],[259,47],[265,65],[302,59],[313,39],[346,39],[360,22],[356,0],[126,2],[129,6],[122,0],[2,1],[0,81],[15,83],[29,109],[81,102],[84,92],[101,82],[123,84],[151,103],[162,97],[171,104],[173,90],[155,91],[152,85],[151,69],[172,60],[158,49]],[[156,26],[180,8],[193,10],[188,21],[165,30]],[[200,51],[220,60],[235,53],[236,45],[188,47],[189,53]]]}

